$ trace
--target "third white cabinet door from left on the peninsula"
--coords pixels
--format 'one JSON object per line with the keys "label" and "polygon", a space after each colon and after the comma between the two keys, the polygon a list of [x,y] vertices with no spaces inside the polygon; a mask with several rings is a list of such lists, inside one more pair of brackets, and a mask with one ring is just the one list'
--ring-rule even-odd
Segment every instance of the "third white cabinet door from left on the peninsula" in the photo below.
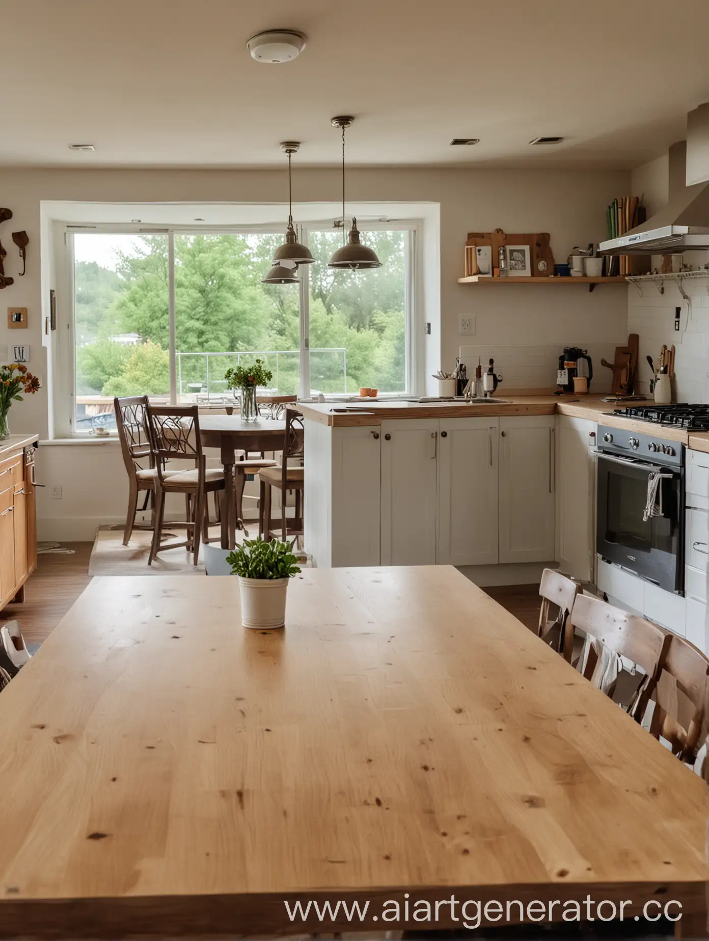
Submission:
{"label": "third white cabinet door from left on the peninsula", "polygon": [[438,562],[497,562],[496,418],[439,421]]}

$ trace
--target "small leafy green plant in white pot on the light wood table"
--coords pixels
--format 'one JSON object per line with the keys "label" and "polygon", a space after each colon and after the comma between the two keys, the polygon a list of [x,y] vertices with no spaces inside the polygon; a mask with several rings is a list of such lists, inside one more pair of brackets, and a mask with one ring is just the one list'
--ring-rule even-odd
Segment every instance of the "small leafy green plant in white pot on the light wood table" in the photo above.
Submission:
{"label": "small leafy green plant in white pot on the light wood table", "polygon": [[245,628],[285,627],[288,582],[298,575],[298,559],[287,542],[261,536],[246,539],[227,556],[239,577],[241,623]]}

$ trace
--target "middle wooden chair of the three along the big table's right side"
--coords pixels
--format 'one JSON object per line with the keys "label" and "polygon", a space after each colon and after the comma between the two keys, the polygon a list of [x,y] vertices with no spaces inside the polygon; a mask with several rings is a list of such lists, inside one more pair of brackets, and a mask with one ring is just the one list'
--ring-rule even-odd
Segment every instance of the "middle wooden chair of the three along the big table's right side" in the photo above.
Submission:
{"label": "middle wooden chair of the three along the big table's right side", "polygon": [[569,620],[572,628],[583,630],[597,642],[588,644],[583,674],[606,695],[612,696],[616,688],[620,674],[618,657],[625,657],[642,668],[645,676],[640,679],[626,709],[639,722],[667,657],[670,641],[667,631],[644,617],[620,611],[588,595],[576,597]]}

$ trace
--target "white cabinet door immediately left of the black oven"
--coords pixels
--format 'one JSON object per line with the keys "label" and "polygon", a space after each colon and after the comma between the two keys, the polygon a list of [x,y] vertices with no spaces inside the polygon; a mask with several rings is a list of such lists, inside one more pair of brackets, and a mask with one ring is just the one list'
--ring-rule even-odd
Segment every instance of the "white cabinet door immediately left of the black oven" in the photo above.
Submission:
{"label": "white cabinet door immediately left of the black oven", "polygon": [[593,581],[596,552],[596,446],[598,425],[556,418],[556,558],[566,575]]}

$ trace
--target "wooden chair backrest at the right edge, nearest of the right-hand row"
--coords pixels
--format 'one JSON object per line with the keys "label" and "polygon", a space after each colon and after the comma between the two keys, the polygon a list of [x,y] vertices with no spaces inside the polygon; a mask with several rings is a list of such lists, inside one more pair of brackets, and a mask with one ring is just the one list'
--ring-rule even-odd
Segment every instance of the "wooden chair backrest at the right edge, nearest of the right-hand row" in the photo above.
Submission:
{"label": "wooden chair backrest at the right edge, nearest of the right-hand row", "polygon": [[684,637],[671,635],[653,699],[650,734],[669,742],[683,761],[694,763],[707,739],[709,659]]}

